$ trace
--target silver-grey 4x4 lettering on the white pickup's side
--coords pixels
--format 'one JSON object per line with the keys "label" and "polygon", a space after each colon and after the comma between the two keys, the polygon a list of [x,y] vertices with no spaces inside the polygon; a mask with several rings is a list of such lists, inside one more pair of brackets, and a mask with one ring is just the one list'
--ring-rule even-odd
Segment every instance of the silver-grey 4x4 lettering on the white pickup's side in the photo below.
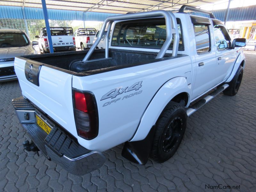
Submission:
{"label": "silver-grey 4x4 lettering on the white pickup's side", "polygon": [[101,97],[101,101],[105,100],[105,99],[108,99],[108,98],[114,99],[114,98],[116,98],[117,95],[129,92],[129,91],[133,91],[133,90],[138,91],[140,89],[140,87],[142,87],[141,84],[142,84],[142,81],[139,81],[139,82],[133,84],[130,87],[125,87],[125,88],[120,88],[119,87],[119,88],[116,88],[116,89],[112,89],[111,91],[107,92],[105,95],[103,95]]}

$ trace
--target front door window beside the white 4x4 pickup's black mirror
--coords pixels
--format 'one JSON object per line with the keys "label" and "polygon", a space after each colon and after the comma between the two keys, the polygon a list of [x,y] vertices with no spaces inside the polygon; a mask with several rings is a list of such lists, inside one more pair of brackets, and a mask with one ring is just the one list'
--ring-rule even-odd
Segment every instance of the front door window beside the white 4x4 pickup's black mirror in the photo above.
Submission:
{"label": "front door window beside the white 4x4 pickup's black mirror", "polygon": [[227,49],[230,47],[230,38],[225,27],[221,25],[214,25],[213,32],[218,50]]}

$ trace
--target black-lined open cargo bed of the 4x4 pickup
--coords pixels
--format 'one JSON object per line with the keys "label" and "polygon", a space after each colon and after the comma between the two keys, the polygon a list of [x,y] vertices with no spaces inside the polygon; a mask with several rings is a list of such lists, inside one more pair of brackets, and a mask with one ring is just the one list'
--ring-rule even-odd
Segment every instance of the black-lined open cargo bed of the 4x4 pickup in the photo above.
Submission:
{"label": "black-lined open cargo bed of the 4x4 pickup", "polygon": [[[23,58],[47,64],[45,65],[47,67],[53,66],[59,68],[59,70],[64,69],[66,72],[67,70],[73,72],[72,74],[86,76],[186,56],[180,54],[177,57],[172,57],[172,54],[166,53],[164,58],[155,59],[157,52],[109,49],[109,56],[112,59],[86,63],[78,62],[83,60],[87,52],[88,50],[59,52],[43,55],[27,55],[23,56]],[[90,60],[104,58],[104,55],[105,49],[95,50]]]}

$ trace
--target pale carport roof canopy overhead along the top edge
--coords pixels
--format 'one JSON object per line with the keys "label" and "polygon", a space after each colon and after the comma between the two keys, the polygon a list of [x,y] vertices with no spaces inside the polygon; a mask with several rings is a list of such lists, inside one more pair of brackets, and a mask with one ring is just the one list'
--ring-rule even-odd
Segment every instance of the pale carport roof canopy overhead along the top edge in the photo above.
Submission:
{"label": "pale carport roof canopy overhead along the top edge", "polygon": [[[183,4],[200,7],[220,0],[46,0],[47,9],[120,13],[178,10]],[[42,8],[41,0],[0,0],[0,5]]]}

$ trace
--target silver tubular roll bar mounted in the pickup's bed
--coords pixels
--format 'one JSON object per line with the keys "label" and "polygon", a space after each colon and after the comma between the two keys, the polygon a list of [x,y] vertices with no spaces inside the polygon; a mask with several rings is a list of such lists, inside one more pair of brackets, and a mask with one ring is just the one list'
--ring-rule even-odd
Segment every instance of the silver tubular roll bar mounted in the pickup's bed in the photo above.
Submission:
{"label": "silver tubular roll bar mounted in the pickup's bed", "polygon": [[[88,62],[89,58],[91,57],[92,53],[100,43],[100,40],[102,39],[103,35],[106,35],[105,38],[105,59],[109,59],[108,56],[108,49],[109,49],[109,33],[111,30],[112,23],[114,21],[121,21],[121,20],[131,20],[131,19],[145,19],[145,18],[152,18],[152,17],[164,17],[165,19],[165,25],[166,25],[166,40],[161,47],[160,51],[158,52],[156,59],[160,59],[164,57],[165,52],[168,50],[171,42],[172,42],[172,34],[174,34],[174,41],[173,41],[173,47],[172,47],[172,56],[177,56],[177,51],[179,47],[179,31],[177,26],[176,17],[172,12],[164,11],[164,10],[158,10],[158,11],[150,11],[150,12],[141,12],[141,13],[130,13],[130,14],[124,14],[124,15],[116,15],[108,17],[104,22],[100,29],[100,34],[95,41],[95,43],[92,45],[91,49],[87,52],[85,55],[83,62]],[[105,31],[107,27],[107,31]]]}

